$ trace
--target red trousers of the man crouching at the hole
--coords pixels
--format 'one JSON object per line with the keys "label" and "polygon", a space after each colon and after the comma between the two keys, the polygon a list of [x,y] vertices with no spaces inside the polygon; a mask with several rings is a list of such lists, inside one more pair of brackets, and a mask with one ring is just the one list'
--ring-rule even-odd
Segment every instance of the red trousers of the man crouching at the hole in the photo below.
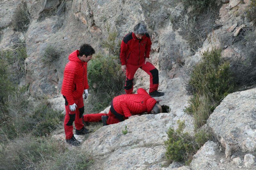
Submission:
{"label": "red trousers of the man crouching at the hole", "polygon": [[[116,116],[109,110],[108,114],[106,113],[96,113],[96,114],[87,114],[84,115],[84,122],[101,122],[101,116],[108,116],[107,124],[115,124],[121,122],[116,118]],[[124,117],[124,119],[128,119]]]}

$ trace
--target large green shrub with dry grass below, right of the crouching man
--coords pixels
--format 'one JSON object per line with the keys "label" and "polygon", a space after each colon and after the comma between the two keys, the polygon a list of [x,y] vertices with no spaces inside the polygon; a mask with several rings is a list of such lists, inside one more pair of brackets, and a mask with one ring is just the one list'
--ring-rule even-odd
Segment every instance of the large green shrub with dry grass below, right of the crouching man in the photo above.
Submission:
{"label": "large green shrub with dry grass below, right of the crouching man", "polygon": [[185,111],[193,114],[198,129],[220,101],[235,90],[233,72],[230,64],[221,58],[221,50],[204,52],[202,62],[192,70],[186,88],[193,97]]}

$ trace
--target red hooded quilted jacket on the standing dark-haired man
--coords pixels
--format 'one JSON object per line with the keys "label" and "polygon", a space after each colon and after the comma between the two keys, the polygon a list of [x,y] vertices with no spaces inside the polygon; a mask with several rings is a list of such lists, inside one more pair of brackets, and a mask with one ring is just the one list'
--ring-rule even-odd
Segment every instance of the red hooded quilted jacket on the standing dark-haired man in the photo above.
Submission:
{"label": "red hooded quilted jacket on the standing dark-haired man", "polygon": [[69,56],[62,82],[61,94],[66,96],[69,105],[73,105],[74,99],[82,97],[84,89],[88,89],[87,63],[82,62],[77,56],[79,50],[73,51]]}

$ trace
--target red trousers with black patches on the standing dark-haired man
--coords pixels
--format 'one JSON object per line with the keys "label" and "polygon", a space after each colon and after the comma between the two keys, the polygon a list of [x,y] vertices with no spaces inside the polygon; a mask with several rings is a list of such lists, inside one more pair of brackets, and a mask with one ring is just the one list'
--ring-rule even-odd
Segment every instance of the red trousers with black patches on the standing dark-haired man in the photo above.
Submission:
{"label": "red trousers with black patches on the standing dark-haired man", "polygon": [[65,129],[65,135],[66,139],[70,139],[73,136],[73,122],[75,121],[75,127],[77,130],[80,130],[84,127],[84,124],[82,122],[82,115],[84,113],[84,100],[83,96],[79,99],[74,99],[76,103],[76,110],[71,111],[69,110],[69,104],[68,101],[65,99],[65,109],[66,109],[66,115],[64,119],[64,129]]}

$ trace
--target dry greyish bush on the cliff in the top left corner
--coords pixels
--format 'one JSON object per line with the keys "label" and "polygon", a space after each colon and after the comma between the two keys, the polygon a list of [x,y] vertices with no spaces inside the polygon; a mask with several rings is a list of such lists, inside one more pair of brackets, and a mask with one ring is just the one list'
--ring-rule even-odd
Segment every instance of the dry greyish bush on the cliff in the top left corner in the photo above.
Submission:
{"label": "dry greyish bush on the cliff in the top left corner", "polygon": [[30,24],[30,18],[27,8],[27,3],[21,1],[20,5],[17,7],[16,11],[12,16],[12,28],[15,31],[26,31]]}

